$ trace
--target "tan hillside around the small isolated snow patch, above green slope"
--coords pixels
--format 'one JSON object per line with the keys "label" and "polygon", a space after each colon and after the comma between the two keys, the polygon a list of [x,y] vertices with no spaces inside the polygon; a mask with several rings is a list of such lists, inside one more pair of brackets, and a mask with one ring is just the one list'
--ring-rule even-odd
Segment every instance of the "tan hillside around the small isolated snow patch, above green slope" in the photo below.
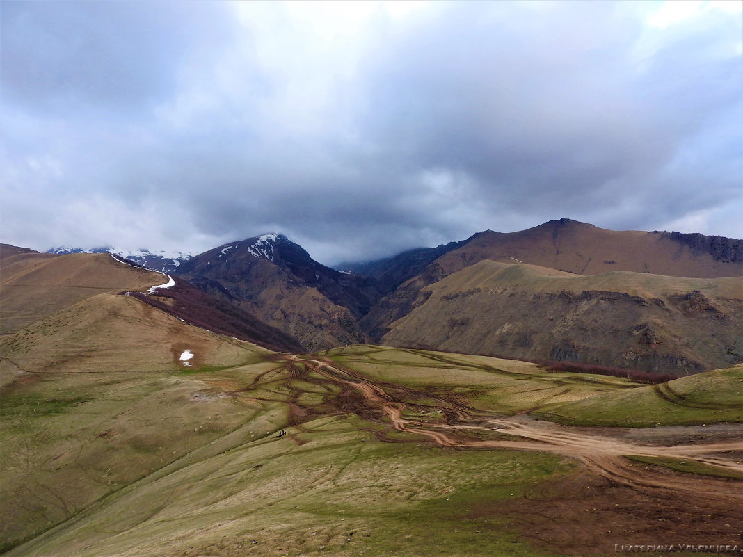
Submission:
{"label": "tan hillside around the small isolated snow patch, above green slope", "polygon": [[[191,351],[190,365],[181,360]],[[193,327],[135,299],[98,294],[0,340],[0,354],[23,371],[175,371],[269,351]]]}

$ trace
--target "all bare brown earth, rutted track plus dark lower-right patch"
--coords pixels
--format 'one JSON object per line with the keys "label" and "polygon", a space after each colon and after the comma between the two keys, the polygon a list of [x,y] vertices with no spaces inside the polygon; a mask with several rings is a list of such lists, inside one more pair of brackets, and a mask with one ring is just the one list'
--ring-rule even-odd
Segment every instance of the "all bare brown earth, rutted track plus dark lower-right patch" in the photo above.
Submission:
{"label": "all bare brown earth, rutted track plus dark lower-right patch", "polygon": [[405,400],[420,398],[421,392],[369,382],[328,359],[286,359],[296,377],[302,372],[293,362],[301,362],[308,370],[340,385],[340,399],[346,401],[343,409],[366,419],[386,418],[396,431],[421,435],[438,446],[551,452],[584,465],[582,472],[539,484],[525,498],[481,504],[463,518],[507,516],[536,546],[577,555],[608,552],[611,548],[607,539],[628,545],[740,543],[740,483],[672,472],[625,456],[672,457],[717,466],[743,478],[743,434],[739,426],[704,429],[704,434],[712,438],[699,442],[698,427],[655,428],[651,433],[567,427],[533,420],[525,414],[487,415],[451,397],[441,397],[426,407],[429,413],[441,411],[445,421],[424,421],[405,417],[407,410],[418,406]]}

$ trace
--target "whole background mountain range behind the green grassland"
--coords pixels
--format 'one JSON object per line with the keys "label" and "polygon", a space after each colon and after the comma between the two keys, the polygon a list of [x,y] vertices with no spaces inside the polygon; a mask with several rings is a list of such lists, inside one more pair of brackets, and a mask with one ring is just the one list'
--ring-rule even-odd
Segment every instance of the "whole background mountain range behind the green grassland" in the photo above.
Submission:
{"label": "whole background mountain range behind the green grassland", "polygon": [[276,233],[170,262],[117,253],[172,267],[220,307],[281,331],[278,344],[261,339],[274,348],[378,343],[675,374],[743,361],[743,241],[733,238],[562,218],[343,271]]}

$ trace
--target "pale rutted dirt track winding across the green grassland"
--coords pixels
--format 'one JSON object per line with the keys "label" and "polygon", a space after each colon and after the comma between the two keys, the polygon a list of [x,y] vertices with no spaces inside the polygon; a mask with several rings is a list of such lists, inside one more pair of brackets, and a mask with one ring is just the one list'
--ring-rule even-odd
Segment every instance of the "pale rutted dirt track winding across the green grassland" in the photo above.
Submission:
{"label": "pale rutted dirt track winding across the green grassland", "polygon": [[[379,408],[398,431],[420,434],[445,447],[471,449],[516,449],[551,452],[574,457],[585,464],[592,472],[612,482],[629,486],[641,492],[669,490],[671,492],[703,491],[711,497],[727,500],[734,507],[743,504],[743,491],[731,489],[729,481],[718,478],[702,478],[695,475],[664,473],[656,467],[637,466],[623,455],[642,455],[649,457],[672,457],[681,460],[695,460],[699,463],[721,466],[743,474],[743,463],[726,455],[727,452],[743,450],[740,438],[718,440],[712,443],[675,444],[684,441],[684,433],[672,446],[652,446],[607,437],[600,433],[601,428],[573,428],[559,424],[533,420],[524,415],[513,417],[473,416],[461,405],[452,408],[452,401],[442,400],[439,410],[455,414],[455,423],[421,422],[403,416],[406,403],[395,400],[379,385],[374,385],[354,372],[341,368],[333,362],[319,359],[301,359],[288,356],[291,361],[301,361],[311,371],[332,382],[353,388],[367,403]],[[468,434],[507,434],[519,440],[473,440],[457,433]],[[735,486],[736,488],[737,486]]]}

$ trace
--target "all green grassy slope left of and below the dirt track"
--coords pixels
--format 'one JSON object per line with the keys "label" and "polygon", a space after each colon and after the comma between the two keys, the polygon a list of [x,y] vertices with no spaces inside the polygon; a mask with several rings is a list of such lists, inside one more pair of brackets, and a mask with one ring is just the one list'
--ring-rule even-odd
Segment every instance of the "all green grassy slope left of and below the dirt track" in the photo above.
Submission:
{"label": "all green grassy slope left of and below the dirt track", "polygon": [[387,426],[340,411],[337,389],[293,369],[268,356],[175,374],[23,374],[0,406],[14,486],[3,539],[45,533],[9,555],[535,554],[511,553],[505,519],[464,515],[568,461],[405,434],[380,443]]}

